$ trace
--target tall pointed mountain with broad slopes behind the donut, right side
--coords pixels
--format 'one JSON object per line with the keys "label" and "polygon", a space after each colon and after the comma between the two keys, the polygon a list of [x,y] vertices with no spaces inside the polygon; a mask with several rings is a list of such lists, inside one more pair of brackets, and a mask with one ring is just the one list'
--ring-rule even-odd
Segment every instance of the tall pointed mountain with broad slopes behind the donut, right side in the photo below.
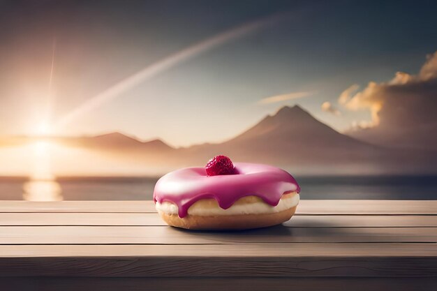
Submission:
{"label": "tall pointed mountain with broad slopes behind the donut, right side", "polygon": [[298,105],[283,107],[232,140],[185,150],[191,160],[218,153],[237,161],[272,163],[306,173],[437,172],[432,151],[391,149],[343,135]]}

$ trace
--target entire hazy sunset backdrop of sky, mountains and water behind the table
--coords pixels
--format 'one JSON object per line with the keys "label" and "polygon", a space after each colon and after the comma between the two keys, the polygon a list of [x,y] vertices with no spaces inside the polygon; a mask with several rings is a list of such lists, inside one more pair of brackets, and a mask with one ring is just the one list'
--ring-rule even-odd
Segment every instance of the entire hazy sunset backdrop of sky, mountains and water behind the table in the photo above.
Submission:
{"label": "entire hazy sunset backdrop of sky, mountains and water behind the table", "polygon": [[437,198],[433,1],[0,1],[0,199],[143,200],[178,167]]}

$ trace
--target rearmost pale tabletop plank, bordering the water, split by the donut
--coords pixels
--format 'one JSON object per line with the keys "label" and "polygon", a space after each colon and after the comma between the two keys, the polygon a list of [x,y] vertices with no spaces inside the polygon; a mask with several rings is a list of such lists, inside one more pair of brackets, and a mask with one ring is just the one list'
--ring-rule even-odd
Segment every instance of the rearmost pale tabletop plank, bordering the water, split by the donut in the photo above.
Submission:
{"label": "rearmost pale tabletop plank, bordering the water, split by the donut", "polygon": [[[3,201],[0,212],[156,212],[152,201]],[[437,215],[437,200],[302,200],[297,214]]]}

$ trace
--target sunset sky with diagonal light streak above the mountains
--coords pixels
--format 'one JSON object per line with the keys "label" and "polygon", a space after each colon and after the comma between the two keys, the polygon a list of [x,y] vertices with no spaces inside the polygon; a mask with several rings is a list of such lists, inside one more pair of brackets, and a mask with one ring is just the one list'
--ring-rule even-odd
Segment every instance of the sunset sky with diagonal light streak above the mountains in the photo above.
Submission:
{"label": "sunset sky with diagonal light streak above the mountains", "polygon": [[372,110],[339,97],[419,74],[435,15],[433,1],[0,0],[0,135],[61,124],[180,147],[295,104],[348,130]]}

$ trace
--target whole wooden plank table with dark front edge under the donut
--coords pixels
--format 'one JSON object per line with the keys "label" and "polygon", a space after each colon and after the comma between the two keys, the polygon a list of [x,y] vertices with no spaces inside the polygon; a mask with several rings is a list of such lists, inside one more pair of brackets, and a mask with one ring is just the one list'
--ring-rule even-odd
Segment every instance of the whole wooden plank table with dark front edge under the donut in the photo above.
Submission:
{"label": "whole wooden plank table with dark front edge under the donut", "polygon": [[284,225],[168,227],[152,202],[0,202],[0,290],[437,290],[437,201],[307,200]]}

